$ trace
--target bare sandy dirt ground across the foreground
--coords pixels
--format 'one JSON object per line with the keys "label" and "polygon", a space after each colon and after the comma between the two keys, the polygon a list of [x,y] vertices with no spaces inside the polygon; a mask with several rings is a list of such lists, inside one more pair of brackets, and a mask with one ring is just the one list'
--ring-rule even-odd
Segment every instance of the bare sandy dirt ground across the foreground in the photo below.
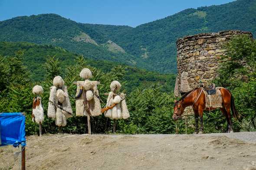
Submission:
{"label": "bare sandy dirt ground across the foreground", "polygon": [[[29,136],[26,170],[256,170],[256,132],[248,133]],[[16,150],[0,148],[0,170],[19,169]]]}

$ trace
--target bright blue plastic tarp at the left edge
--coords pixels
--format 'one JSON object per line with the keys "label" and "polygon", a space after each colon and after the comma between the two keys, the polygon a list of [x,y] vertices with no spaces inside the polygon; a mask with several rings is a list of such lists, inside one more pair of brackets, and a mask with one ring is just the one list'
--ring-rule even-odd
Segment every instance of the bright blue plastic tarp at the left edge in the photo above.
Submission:
{"label": "bright blue plastic tarp at the left edge", "polygon": [[0,146],[26,146],[25,115],[0,113]]}

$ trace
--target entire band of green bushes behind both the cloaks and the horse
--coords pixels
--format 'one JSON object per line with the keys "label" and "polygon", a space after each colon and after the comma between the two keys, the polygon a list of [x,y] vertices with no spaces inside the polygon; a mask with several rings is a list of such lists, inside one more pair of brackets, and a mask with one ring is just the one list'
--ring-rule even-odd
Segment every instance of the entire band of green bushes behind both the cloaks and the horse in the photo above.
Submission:
{"label": "entire band of green bushes behind both the cloaks and the horse", "polygon": [[[219,69],[219,76],[215,83],[217,86],[227,87],[235,99],[236,109],[240,113],[238,120],[233,119],[235,131],[256,130],[256,41],[245,35],[231,38],[225,44],[227,60]],[[31,121],[32,111],[32,87],[40,84],[44,88],[43,107],[45,111],[45,121],[43,131],[45,133],[56,133],[57,128],[54,120],[47,118],[47,106],[49,98],[49,87],[52,86],[53,77],[61,75],[68,86],[71,96],[72,109],[75,112],[76,86],[72,84],[75,80],[81,80],[79,71],[83,67],[89,67],[94,77],[101,84],[98,86],[100,97],[105,102],[104,93],[109,91],[109,84],[112,80],[118,80],[123,85],[122,92],[127,93],[131,80],[125,77],[129,75],[126,66],[114,66],[112,69],[102,71],[89,65],[82,56],[75,56],[73,64],[62,67],[62,60],[56,56],[48,56],[43,64],[44,80],[35,82],[31,79],[31,72],[23,64],[26,61],[24,51],[18,51],[15,55],[0,55],[0,112],[26,112],[26,132],[28,135],[38,133],[38,125]],[[135,68],[134,68],[135,69]],[[132,75],[132,74],[131,74]],[[134,75],[135,76],[135,75]],[[136,77],[136,76],[135,76]],[[164,79],[164,77],[163,77]],[[138,87],[131,92],[126,99],[131,117],[127,120],[118,121],[118,133],[125,134],[156,134],[156,133],[185,133],[194,132],[193,115],[185,116],[177,122],[173,122],[174,97],[172,92],[163,92],[161,84],[149,83],[146,88]],[[102,103],[105,106],[105,103]],[[187,118],[186,118],[187,117]],[[185,119],[186,118],[186,119]],[[112,121],[104,115],[94,117],[92,120],[93,133],[109,133],[112,129]],[[187,126],[185,124],[187,123]],[[87,122],[85,117],[75,117],[68,119],[67,126],[63,129],[66,133],[82,134],[86,132]],[[219,110],[204,113],[204,132],[226,132],[226,119]]]}

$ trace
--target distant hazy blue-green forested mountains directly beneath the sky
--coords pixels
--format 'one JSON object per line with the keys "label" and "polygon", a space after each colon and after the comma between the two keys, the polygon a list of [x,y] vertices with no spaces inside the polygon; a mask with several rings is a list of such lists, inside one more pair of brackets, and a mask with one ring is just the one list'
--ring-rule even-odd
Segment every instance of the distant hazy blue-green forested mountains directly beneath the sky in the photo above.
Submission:
{"label": "distant hazy blue-green forested mountains directly beneath the sky", "polygon": [[[135,28],[77,23],[56,14],[0,22],[0,41],[60,46],[97,60],[116,61],[162,73],[176,72],[176,40],[184,35],[240,29],[256,36],[256,0],[187,9]],[[125,52],[105,45],[111,40]]]}

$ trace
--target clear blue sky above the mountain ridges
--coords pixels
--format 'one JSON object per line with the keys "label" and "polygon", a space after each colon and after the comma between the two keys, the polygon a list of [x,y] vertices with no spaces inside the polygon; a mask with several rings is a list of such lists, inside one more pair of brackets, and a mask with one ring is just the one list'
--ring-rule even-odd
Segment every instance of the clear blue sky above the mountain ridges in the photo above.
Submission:
{"label": "clear blue sky above the mountain ridges", "polygon": [[0,21],[56,13],[82,23],[138,26],[187,8],[234,0],[0,0]]}

